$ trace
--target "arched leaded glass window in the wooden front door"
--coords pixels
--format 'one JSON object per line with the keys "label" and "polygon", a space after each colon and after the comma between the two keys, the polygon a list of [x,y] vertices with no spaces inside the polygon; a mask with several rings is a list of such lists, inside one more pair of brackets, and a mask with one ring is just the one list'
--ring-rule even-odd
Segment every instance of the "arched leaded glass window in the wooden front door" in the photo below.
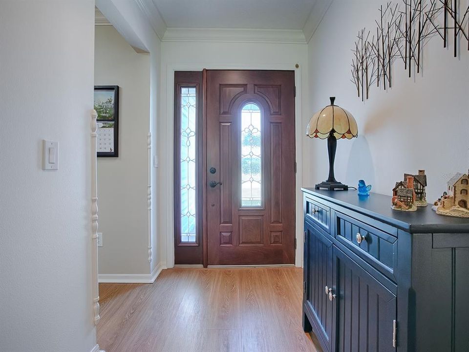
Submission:
{"label": "arched leaded glass window in the wooden front door", "polygon": [[261,113],[254,103],[241,110],[241,206],[262,205]]}

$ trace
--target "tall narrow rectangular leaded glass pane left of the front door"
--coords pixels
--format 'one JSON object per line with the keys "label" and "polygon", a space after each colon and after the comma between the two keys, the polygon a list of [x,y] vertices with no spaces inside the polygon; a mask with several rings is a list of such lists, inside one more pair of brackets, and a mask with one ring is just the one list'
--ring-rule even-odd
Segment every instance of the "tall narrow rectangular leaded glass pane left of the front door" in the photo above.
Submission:
{"label": "tall narrow rectangular leaded glass pane left of the front door", "polygon": [[195,87],[182,87],[181,112],[181,242],[195,242],[196,235],[196,120]]}

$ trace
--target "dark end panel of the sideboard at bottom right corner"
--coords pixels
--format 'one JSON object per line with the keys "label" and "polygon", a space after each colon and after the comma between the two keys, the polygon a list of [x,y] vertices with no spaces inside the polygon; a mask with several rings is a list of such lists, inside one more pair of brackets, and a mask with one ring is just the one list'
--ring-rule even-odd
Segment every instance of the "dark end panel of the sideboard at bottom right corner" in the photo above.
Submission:
{"label": "dark end panel of the sideboard at bottom right corner", "polygon": [[469,233],[414,234],[412,240],[416,338],[410,348],[469,351]]}

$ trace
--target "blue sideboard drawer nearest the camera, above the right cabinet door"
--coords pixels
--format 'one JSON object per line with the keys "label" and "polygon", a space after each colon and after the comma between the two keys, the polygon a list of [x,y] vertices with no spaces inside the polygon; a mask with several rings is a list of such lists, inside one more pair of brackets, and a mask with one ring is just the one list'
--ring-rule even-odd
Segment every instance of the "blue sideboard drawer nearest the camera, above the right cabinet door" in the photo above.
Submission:
{"label": "blue sideboard drawer nearest the camera, above the right cabinet door", "polygon": [[337,241],[396,281],[397,238],[345,214],[335,214]]}

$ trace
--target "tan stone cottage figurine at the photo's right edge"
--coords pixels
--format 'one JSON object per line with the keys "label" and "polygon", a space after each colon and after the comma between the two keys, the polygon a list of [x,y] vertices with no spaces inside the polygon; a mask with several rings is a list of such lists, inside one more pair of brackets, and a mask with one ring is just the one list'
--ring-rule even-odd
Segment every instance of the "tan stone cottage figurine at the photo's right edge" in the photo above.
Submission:
{"label": "tan stone cottage figurine at the photo's right edge", "polygon": [[439,215],[469,218],[469,171],[457,173],[448,181],[448,192],[435,201],[433,209]]}

